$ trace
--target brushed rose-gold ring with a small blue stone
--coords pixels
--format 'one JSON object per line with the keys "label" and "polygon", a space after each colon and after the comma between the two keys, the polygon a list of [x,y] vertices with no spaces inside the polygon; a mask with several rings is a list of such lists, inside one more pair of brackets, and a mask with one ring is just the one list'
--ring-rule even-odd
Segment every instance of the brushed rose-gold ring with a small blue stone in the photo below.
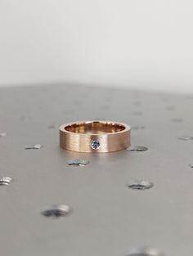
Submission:
{"label": "brushed rose-gold ring with a small blue stone", "polygon": [[131,128],[128,124],[105,121],[63,124],[60,127],[60,146],[85,153],[124,150],[131,146]]}

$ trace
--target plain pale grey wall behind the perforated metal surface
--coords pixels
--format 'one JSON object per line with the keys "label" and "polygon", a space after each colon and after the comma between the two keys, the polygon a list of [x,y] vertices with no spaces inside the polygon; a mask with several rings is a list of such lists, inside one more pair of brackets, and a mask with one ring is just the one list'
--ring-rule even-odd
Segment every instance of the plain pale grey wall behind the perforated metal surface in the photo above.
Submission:
{"label": "plain pale grey wall behind the perforated metal surface", "polygon": [[2,0],[0,85],[193,92],[191,0]]}

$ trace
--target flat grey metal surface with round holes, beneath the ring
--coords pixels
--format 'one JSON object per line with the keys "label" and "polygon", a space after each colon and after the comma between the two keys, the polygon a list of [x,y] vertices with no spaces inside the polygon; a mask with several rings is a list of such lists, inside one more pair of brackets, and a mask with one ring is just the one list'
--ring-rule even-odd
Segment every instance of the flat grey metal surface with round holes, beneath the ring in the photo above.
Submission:
{"label": "flat grey metal surface with round holes, beneath the ring", "polygon": [[[193,251],[193,98],[83,86],[0,89],[0,245],[4,256],[123,256],[149,245],[165,255]],[[173,119],[182,119],[181,123]],[[59,148],[58,127],[74,120],[110,119],[132,129],[129,150],[86,155]],[[55,125],[56,128],[48,128]],[[43,144],[40,150],[25,146]],[[89,159],[85,167],[66,160]],[[146,191],[132,180],[154,182]],[[64,218],[42,210],[69,204]]]}

